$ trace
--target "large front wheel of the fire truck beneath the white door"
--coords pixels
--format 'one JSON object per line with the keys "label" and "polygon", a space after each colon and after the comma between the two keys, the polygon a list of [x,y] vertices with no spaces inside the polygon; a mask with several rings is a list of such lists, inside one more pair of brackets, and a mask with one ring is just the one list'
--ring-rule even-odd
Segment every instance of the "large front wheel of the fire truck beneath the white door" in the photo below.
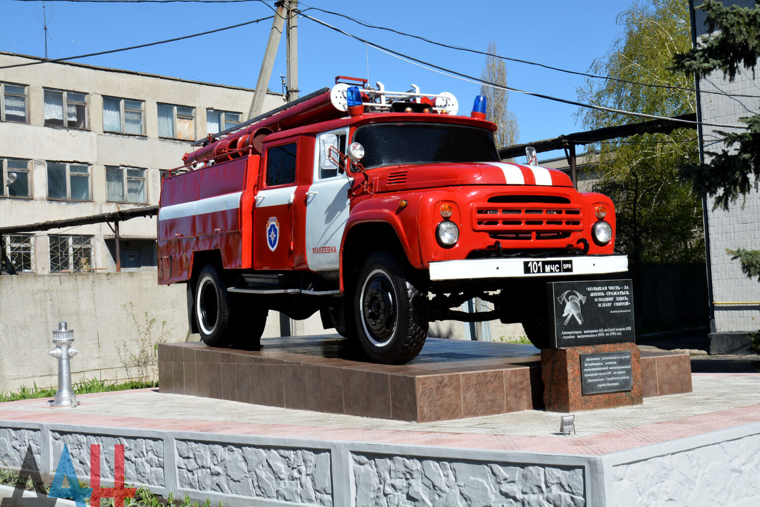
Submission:
{"label": "large front wheel of the fire truck beneath the white door", "polygon": [[420,353],[428,321],[423,292],[410,269],[385,252],[375,252],[359,271],[354,296],[356,331],[370,360],[401,364]]}

